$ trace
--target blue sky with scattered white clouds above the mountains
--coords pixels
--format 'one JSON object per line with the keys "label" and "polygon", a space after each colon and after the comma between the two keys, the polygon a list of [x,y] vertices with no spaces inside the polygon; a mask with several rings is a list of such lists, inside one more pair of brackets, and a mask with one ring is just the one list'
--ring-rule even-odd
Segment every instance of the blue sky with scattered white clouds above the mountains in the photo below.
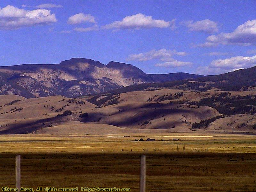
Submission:
{"label": "blue sky with scattered white clouds above the mountains", "polygon": [[0,1],[0,66],[74,57],[145,73],[256,65],[256,1]]}

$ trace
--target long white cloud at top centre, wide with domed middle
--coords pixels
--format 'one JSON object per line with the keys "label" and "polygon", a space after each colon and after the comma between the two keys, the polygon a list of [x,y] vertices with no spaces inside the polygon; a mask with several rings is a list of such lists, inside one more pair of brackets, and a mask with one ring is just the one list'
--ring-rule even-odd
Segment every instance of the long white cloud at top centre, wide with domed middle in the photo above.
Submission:
{"label": "long white cloud at top centre, wide with domed middle", "polygon": [[114,21],[113,23],[105,25],[106,29],[140,29],[140,28],[175,28],[175,19],[172,21],[155,20],[152,16],[145,16],[141,13],[127,16],[121,21]]}

